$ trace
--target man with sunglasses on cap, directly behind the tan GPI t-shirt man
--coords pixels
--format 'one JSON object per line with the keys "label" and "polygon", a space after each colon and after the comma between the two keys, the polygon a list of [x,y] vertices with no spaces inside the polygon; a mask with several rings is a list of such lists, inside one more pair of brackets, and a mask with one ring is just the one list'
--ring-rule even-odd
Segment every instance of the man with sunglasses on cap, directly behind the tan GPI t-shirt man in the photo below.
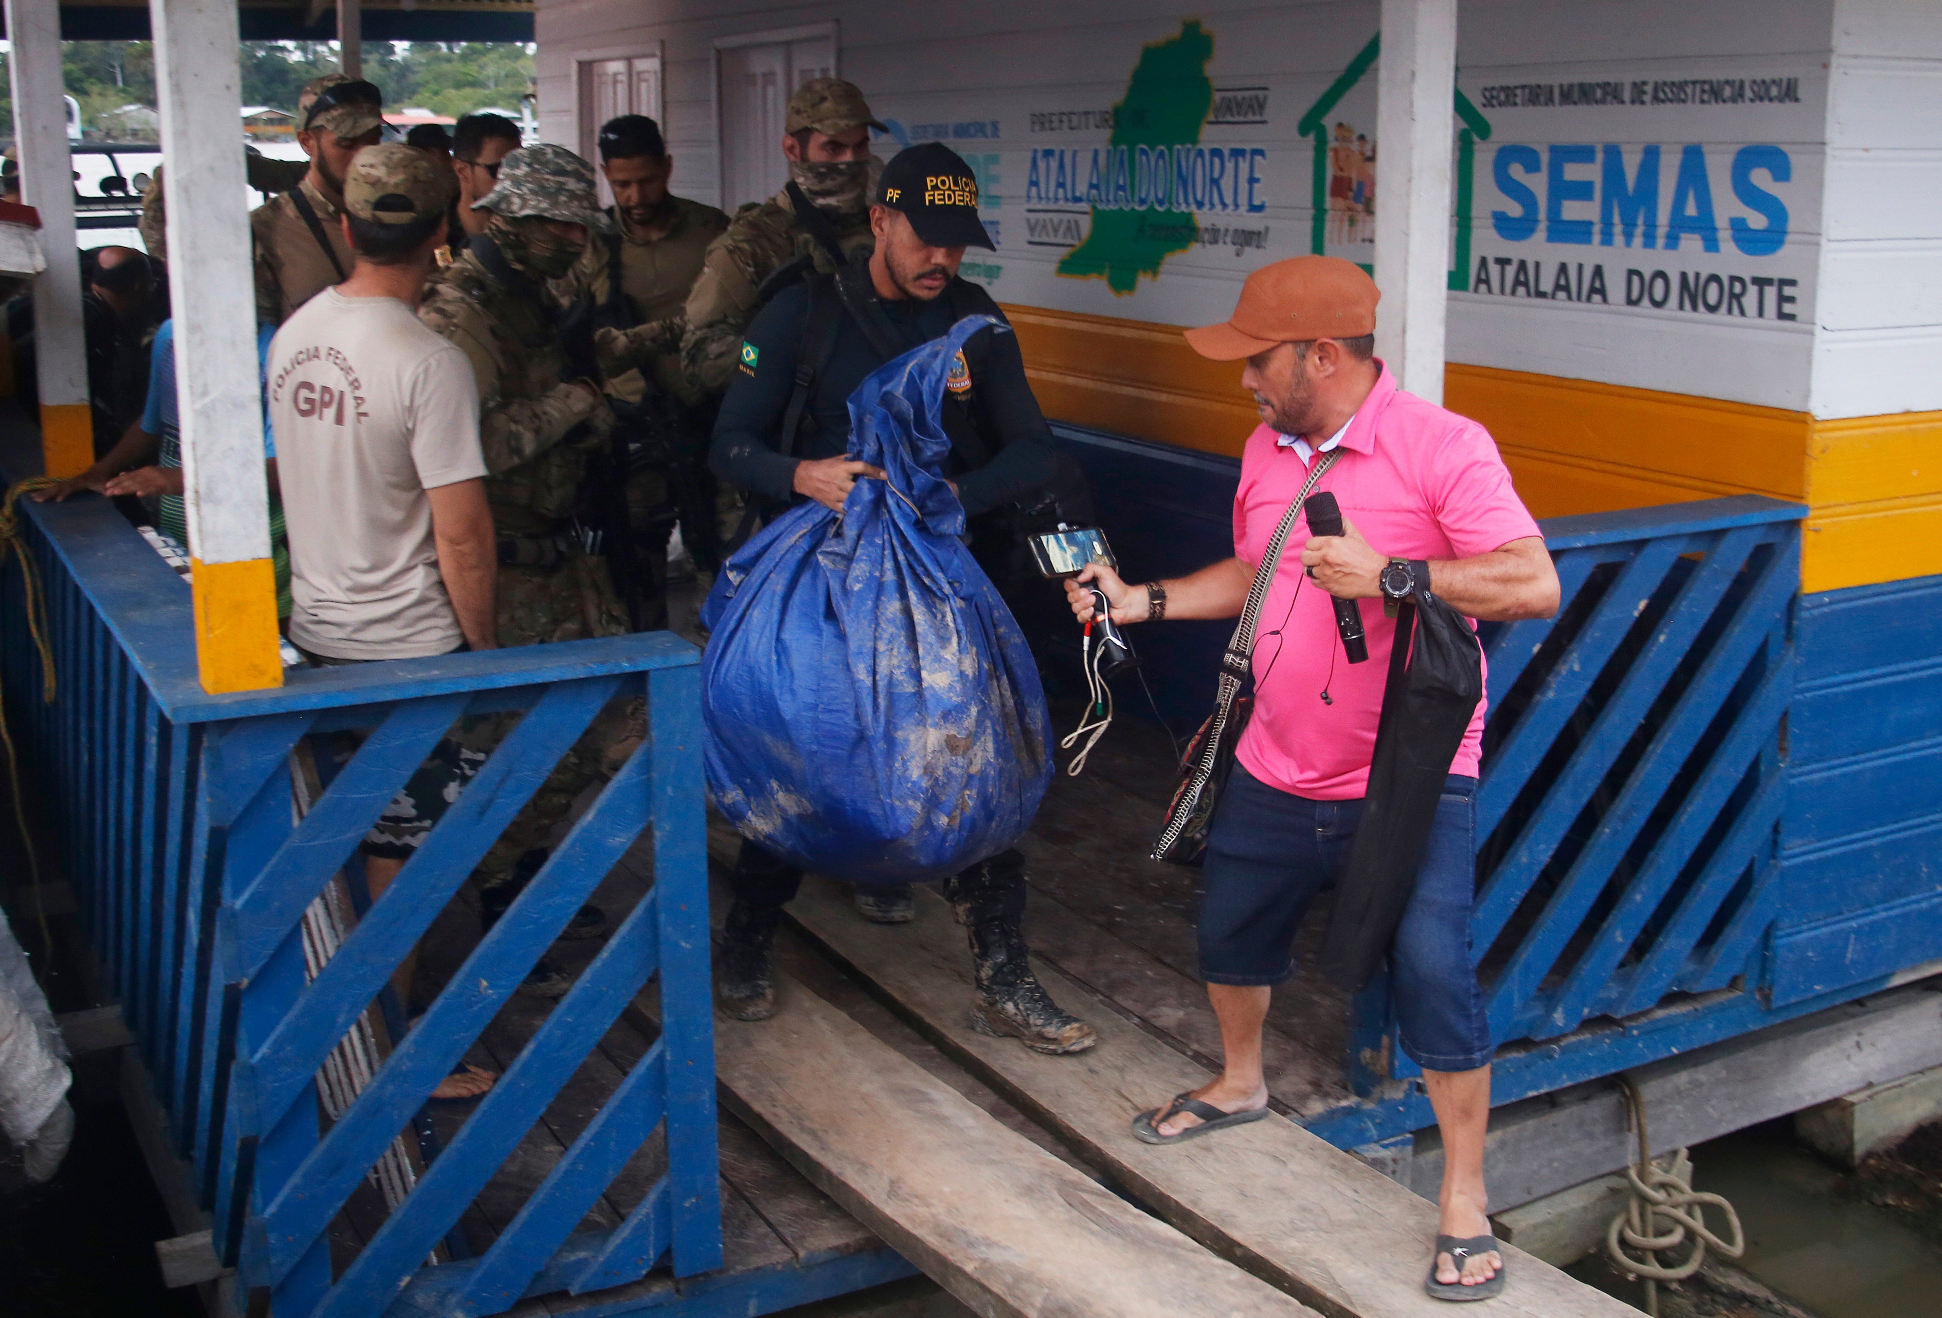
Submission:
{"label": "man with sunglasses on cap, directly behind the tan GPI t-shirt man", "polygon": [[324,74],[297,99],[297,142],[311,171],[289,192],[251,212],[256,245],[256,320],[282,324],[297,307],[352,272],[340,212],[352,157],[385,130],[383,93],[344,74]]}

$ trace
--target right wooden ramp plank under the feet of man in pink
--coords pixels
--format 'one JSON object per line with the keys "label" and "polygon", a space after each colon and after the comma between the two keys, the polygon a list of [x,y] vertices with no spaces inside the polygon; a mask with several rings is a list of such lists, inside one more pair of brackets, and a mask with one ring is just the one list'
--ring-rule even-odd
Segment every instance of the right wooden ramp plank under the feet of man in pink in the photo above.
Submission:
{"label": "right wooden ramp plank under the feet of man in pink", "polygon": [[[1433,1203],[1282,1116],[1177,1147],[1136,1141],[1128,1130],[1136,1112],[1181,1089],[1206,1083],[1210,1071],[1047,965],[1039,967],[1047,988],[1099,1031],[1097,1048],[1049,1058],[1014,1040],[973,1033],[967,1023],[969,967],[963,932],[930,889],[919,887],[917,903],[919,918],[913,924],[868,924],[856,918],[845,885],[812,877],[790,905],[790,914],[833,957],[874,982],[893,1007],[946,1052],[1051,1126],[1109,1182],[1152,1205],[1194,1240],[1332,1316],[1449,1318],[1449,1306],[1422,1289],[1435,1242]],[[804,1011],[804,1005],[810,1009]],[[814,1015],[814,1004],[792,998],[775,1025],[790,1027],[800,1021],[794,1029],[808,1031]],[[719,1037],[724,1040],[726,1079],[726,1056],[740,1044],[732,1042],[734,1031],[728,1027]],[[868,1103],[858,1095],[880,1085],[876,1075],[870,1075],[868,1085],[856,1085],[856,1077],[868,1075],[860,1070],[849,1081],[841,1071],[825,1073],[849,1097],[837,1099],[821,1118],[804,1116],[802,1124],[812,1132],[818,1120],[829,1122],[835,1114],[858,1110]],[[864,1147],[870,1145],[868,1122],[858,1137]],[[926,1176],[922,1169],[934,1155],[936,1149],[915,1151],[909,1174]],[[816,1172],[808,1174],[816,1178]],[[841,1194],[837,1198],[843,1202]],[[893,1221],[845,1203],[899,1250],[905,1248],[891,1235]],[[915,1209],[891,1203],[891,1211]],[[1031,1240],[1033,1254],[1043,1254],[1045,1248],[1043,1238]],[[932,1271],[928,1258],[907,1256]],[[1620,1318],[1635,1312],[1521,1250],[1505,1246],[1505,1258],[1511,1283],[1491,1301],[1493,1314]],[[1150,1293],[1148,1285],[1138,1289]],[[1134,1310],[1101,1304],[1078,1312]],[[1187,1304],[1169,1312],[1229,1310]]]}

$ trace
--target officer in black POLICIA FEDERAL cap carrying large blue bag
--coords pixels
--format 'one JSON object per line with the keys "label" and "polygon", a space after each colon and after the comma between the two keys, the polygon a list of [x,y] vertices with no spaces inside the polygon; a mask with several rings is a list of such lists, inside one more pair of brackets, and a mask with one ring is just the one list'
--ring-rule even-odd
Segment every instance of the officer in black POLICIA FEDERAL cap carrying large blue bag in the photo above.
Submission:
{"label": "officer in black POLICIA FEDERAL cap carrying large blue bag", "polygon": [[[965,316],[1004,320],[990,295],[957,278],[967,247],[992,248],[977,215],[977,179],[963,157],[942,144],[913,146],[886,167],[872,198],[868,258],[845,260],[835,233],[804,227],[835,258],[833,276],[796,270],[800,280],[765,289],[722,398],[709,464],[748,495],[753,511],[779,511],[802,499],[829,509],[858,479],[884,472],[853,462],[849,396],[886,361],[942,338]],[[802,210],[802,208],[798,208]],[[827,223],[827,221],[823,221]],[[950,375],[944,431],[952,452],[944,476],[963,503],[971,547],[987,571],[1016,549],[1020,507],[1043,505],[1051,489],[1070,501],[1070,466],[1053,448],[1051,429],[1025,380],[1014,334],[973,336]],[[1072,491],[1072,493],[1066,493]],[[1070,511],[1068,511],[1070,512]],[[744,536],[753,522],[744,526]],[[783,905],[796,895],[802,872],[742,842],[730,877],[734,908],[717,953],[717,998],[744,1021],[775,1013],[771,947]],[[1031,972],[1020,922],[1025,914],[1025,858],[1008,848],[944,881],[944,895],[967,928],[975,963],[973,1025],[1020,1038],[1037,1052],[1082,1052],[1095,1042],[1089,1025],[1062,1011]],[[858,889],[864,916],[884,924],[911,918],[909,887]]]}

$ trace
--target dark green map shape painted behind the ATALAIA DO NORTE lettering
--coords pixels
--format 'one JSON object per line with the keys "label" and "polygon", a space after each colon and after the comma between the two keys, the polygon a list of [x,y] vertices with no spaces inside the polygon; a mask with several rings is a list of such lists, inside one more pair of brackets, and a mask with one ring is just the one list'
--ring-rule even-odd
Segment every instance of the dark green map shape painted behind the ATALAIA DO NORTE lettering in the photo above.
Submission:
{"label": "dark green map shape painted behind the ATALAIA DO NORTE lettering", "polygon": [[[1196,146],[1214,109],[1214,33],[1198,21],[1181,23],[1181,35],[1140,50],[1140,64],[1126,83],[1126,99],[1113,107],[1111,146]],[[1159,278],[1173,252],[1189,250],[1200,237],[1192,212],[1091,208],[1086,241],[1058,262],[1072,280],[1105,280],[1115,293],[1132,293],[1140,276]]]}

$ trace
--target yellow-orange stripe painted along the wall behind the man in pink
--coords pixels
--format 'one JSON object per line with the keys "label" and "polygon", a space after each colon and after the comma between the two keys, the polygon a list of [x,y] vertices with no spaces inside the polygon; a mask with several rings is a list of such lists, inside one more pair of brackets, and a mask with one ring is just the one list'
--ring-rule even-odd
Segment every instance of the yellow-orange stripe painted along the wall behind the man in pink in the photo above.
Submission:
{"label": "yellow-orange stripe painted along the wall behind the man in pink", "polygon": [[[1239,363],[1179,328],[1041,307],[1006,314],[1049,417],[1237,456],[1255,429]],[[1812,507],[1806,590],[1942,573],[1942,412],[1816,421],[1804,412],[1451,363],[1445,404],[1497,439],[1538,516],[1721,495]]]}

